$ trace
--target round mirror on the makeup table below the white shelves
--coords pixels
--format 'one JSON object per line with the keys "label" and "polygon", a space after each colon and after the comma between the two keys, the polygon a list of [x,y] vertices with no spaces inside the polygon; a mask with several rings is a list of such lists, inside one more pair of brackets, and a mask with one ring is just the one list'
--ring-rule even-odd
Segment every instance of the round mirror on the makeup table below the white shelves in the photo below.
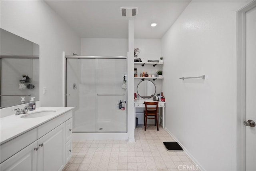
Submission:
{"label": "round mirror on the makeup table below the white shelves", "polygon": [[149,99],[156,93],[156,86],[150,80],[143,80],[137,86],[137,93],[143,99]]}

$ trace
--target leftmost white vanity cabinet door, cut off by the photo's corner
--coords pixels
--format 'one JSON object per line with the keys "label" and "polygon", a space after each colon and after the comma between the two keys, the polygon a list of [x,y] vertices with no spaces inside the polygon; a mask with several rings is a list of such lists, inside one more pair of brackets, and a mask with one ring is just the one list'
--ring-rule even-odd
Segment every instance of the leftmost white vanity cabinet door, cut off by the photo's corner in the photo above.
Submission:
{"label": "leftmost white vanity cabinet door, cut off by the photo's corner", "polygon": [[1,171],[36,171],[36,147],[35,141],[1,163]]}

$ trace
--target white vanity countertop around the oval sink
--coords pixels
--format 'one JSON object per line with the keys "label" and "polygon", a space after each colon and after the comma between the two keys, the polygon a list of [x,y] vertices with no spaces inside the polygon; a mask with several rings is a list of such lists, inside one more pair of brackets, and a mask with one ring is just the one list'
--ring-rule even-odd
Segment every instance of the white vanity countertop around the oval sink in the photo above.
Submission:
{"label": "white vanity countertop around the oval sink", "polygon": [[[15,112],[13,112],[13,115],[2,117],[0,118],[0,144],[13,139],[14,137],[17,137],[26,131],[38,127],[39,125],[42,125],[43,123],[46,123],[47,121],[50,121],[51,119],[58,117],[59,115],[62,115],[63,113],[66,113],[72,109],[74,109],[74,107],[38,107],[34,111],[28,111],[27,114],[15,115]],[[56,112],[54,114],[45,115],[42,117],[26,119],[21,117],[36,111],[49,110],[54,110]]]}

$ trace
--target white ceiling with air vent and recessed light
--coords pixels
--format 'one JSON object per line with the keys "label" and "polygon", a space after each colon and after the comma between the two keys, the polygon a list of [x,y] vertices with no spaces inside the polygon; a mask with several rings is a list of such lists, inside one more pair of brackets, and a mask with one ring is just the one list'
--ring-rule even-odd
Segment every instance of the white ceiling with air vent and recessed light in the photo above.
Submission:
{"label": "white ceiling with air vent and recessed light", "polygon": [[[162,38],[190,3],[186,0],[48,0],[46,3],[81,38],[128,38],[128,20],[120,7],[138,7],[135,38]],[[156,27],[150,24],[156,22]]]}

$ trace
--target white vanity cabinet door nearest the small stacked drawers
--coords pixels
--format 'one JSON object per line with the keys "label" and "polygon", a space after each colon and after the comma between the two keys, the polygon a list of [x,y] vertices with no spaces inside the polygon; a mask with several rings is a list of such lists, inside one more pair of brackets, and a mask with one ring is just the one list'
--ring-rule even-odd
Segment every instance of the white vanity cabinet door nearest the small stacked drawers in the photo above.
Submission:
{"label": "white vanity cabinet door nearest the small stacked drawers", "polygon": [[38,171],[61,171],[65,166],[65,123],[38,139]]}

